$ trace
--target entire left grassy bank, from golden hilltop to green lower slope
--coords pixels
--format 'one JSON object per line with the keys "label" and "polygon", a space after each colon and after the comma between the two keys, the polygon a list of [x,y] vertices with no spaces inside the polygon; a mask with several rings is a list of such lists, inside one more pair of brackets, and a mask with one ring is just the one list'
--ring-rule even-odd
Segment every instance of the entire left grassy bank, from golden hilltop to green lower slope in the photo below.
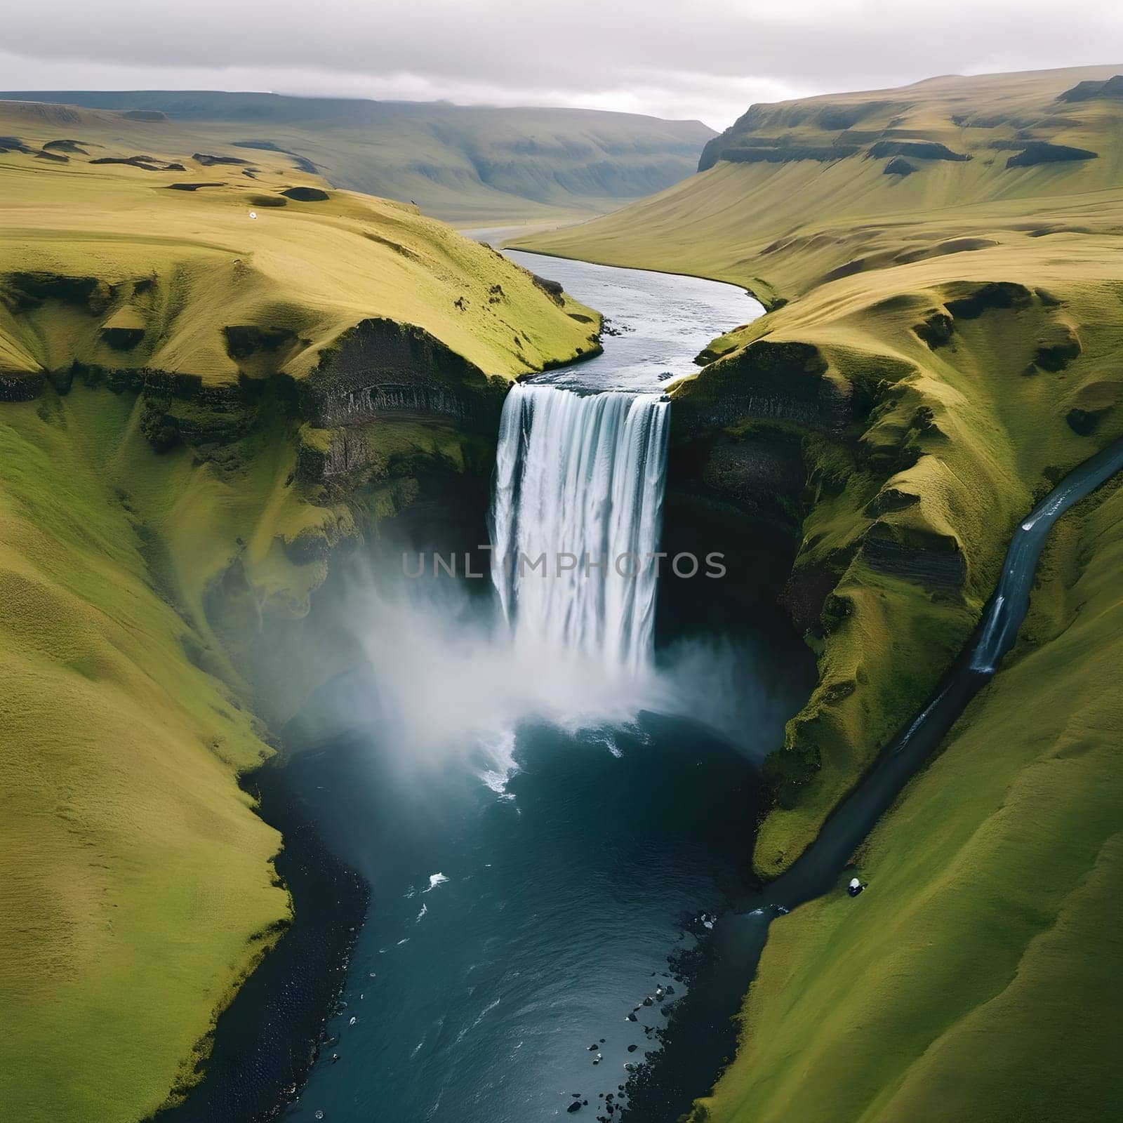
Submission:
{"label": "entire left grassy bank, from golden hilltop to green lower slope", "polygon": [[345,647],[309,617],[334,547],[486,472],[506,381],[595,346],[414,208],[180,139],[0,104],[6,1117],[194,1079],[289,920],[237,776]]}

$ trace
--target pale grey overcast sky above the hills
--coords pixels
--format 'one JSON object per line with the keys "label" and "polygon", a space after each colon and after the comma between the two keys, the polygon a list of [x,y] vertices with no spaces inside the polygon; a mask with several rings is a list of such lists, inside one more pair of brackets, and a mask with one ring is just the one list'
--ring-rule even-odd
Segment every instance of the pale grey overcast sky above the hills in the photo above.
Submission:
{"label": "pale grey overcast sky above the hills", "polygon": [[0,88],[272,90],[700,118],[754,101],[1123,63],[1111,0],[25,0]]}

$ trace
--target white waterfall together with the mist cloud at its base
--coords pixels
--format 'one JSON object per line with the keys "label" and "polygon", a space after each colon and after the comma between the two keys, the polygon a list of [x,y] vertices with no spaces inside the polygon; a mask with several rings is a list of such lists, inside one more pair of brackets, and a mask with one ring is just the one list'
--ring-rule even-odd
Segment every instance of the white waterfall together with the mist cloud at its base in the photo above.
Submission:
{"label": "white waterfall together with the mist cloud at its base", "polygon": [[[347,709],[398,747],[402,767],[458,756],[502,792],[521,724],[611,747],[612,730],[645,711],[700,721],[757,757],[778,743],[782,684],[769,684],[750,640],[685,639],[656,658],[655,565],[631,576],[611,560],[556,563],[658,550],[669,408],[659,394],[514,386],[490,519],[494,595],[486,578],[463,579],[463,558],[454,578],[416,550],[395,569],[386,549],[381,567],[355,577],[350,627],[366,666]],[[544,570],[503,564],[540,554]]]}

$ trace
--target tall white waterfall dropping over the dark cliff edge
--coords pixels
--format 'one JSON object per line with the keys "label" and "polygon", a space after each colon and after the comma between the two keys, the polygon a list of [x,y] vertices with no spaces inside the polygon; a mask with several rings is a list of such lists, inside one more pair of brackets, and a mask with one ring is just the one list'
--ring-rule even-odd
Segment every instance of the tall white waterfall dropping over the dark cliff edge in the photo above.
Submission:
{"label": "tall white waterfall dropping over the dark cliff edge", "polygon": [[632,674],[647,666],[669,410],[661,394],[511,389],[492,576],[517,645]]}

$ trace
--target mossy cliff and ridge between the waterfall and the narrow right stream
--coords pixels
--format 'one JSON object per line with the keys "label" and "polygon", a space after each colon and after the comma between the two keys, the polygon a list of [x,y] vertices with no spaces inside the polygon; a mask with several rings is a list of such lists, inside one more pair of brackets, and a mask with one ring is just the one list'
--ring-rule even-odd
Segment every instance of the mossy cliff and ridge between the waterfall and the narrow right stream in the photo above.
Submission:
{"label": "mossy cliff and ridge between the waterfall and the narrow right stream", "polygon": [[673,391],[668,526],[728,544],[728,587],[778,599],[819,657],[819,687],[766,760],[763,876],[934,686],[1014,520],[1123,428],[1116,299],[989,281],[873,307],[836,295],[831,322],[773,312]]}

